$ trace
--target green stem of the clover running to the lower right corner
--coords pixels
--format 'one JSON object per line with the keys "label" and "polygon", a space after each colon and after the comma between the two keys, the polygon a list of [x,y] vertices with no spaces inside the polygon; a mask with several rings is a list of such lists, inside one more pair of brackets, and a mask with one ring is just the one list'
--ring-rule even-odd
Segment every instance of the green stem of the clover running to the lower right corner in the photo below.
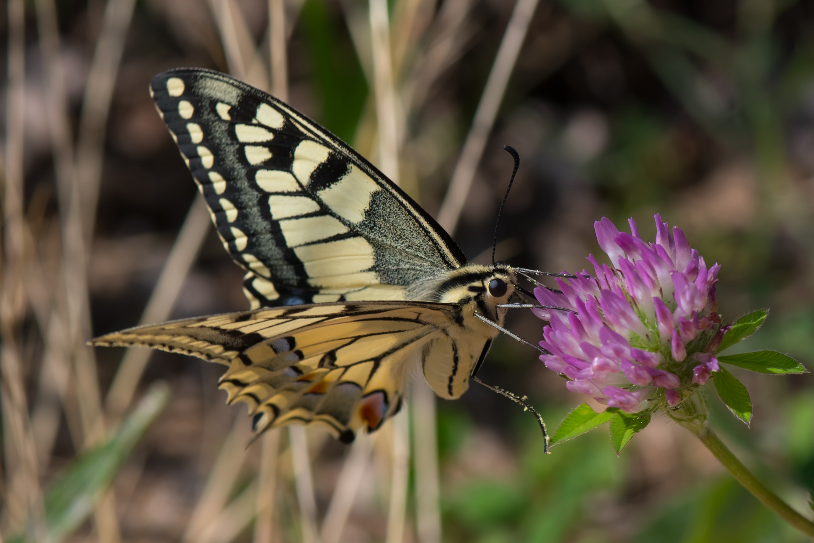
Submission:
{"label": "green stem of the clover running to the lower right corner", "polygon": [[793,510],[785,501],[777,497],[777,494],[766,488],[751,471],[746,469],[746,466],[740,460],[735,458],[732,451],[716,436],[715,432],[709,428],[703,428],[701,431],[694,433],[707,446],[707,449],[710,449],[715,458],[718,458],[719,462],[732,472],[737,482],[742,484],[743,488],[746,488],[752,496],[758,498],[760,503],[780,515],[781,519],[790,523],[800,532],[814,537],[814,523]]}

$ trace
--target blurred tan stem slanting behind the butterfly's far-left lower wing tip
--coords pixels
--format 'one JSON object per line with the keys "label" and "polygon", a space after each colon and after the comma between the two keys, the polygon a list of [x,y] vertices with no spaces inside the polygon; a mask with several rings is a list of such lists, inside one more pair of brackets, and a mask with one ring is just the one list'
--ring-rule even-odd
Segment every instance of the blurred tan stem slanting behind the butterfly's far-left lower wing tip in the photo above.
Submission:
{"label": "blurred tan stem slanting behind the butterfly's far-left lower wing tip", "polygon": [[[178,295],[181,294],[186,276],[190,273],[200,247],[206,240],[210,224],[211,219],[203,196],[195,195],[139,324],[162,322],[169,318]],[[119,418],[133,401],[133,395],[151,354],[152,350],[146,348],[130,348],[125,352],[119,370],[116,371],[116,377],[107,392],[107,412],[113,418]]]}

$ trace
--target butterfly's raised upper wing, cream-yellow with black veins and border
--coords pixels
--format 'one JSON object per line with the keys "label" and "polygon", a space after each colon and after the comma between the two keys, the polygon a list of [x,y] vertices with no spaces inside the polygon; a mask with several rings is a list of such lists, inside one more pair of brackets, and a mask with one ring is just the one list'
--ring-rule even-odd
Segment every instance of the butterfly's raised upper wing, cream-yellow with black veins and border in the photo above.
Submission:
{"label": "butterfly's raised upper wing, cream-yellow with black veins and border", "polygon": [[247,271],[252,307],[403,300],[465,258],[379,170],[293,108],[218,72],[151,81],[156,107]]}

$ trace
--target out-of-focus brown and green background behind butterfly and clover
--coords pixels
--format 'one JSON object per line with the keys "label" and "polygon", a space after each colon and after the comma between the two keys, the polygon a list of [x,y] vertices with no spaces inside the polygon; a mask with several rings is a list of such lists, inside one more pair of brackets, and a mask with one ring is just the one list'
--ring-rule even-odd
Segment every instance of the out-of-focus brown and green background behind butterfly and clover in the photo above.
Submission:
{"label": "out-of-focus brown and green background behind butterfly and clover", "polygon": [[[475,151],[465,158],[474,161],[462,163],[474,175],[458,194],[453,236],[470,260],[491,256],[512,167],[501,148],[508,144],[521,165],[501,217],[499,260],[577,271],[599,252],[593,221],[607,216],[622,227],[634,217],[648,239],[660,212],[708,263],[722,265],[725,319],[772,309],[743,349],[774,348],[812,368],[814,3],[523,5],[532,10],[525,18],[501,0],[387,2],[401,186],[437,214],[449,180],[466,177],[455,172],[467,138],[478,138],[479,103],[492,100],[499,107],[481,130],[483,153],[470,143]],[[250,421],[242,407],[223,405],[221,369],[153,353],[143,374],[135,361],[117,378],[123,349],[81,345],[138,324],[165,265],[180,290],[177,300],[164,296],[164,317],[247,308],[242,272],[212,230],[194,223],[195,208],[187,216],[195,186],[147,83],[168,68],[199,66],[272,90],[274,6],[286,15],[287,101],[380,164],[376,90],[381,96],[387,86],[375,82],[367,2],[9,0],[0,11],[8,74],[0,90],[2,536],[24,526],[41,485],[115,427],[130,392],[138,400],[164,379],[168,407],[71,541],[317,541],[309,529],[326,522],[348,448],[307,432],[309,506],[297,490],[295,444],[281,433],[272,455],[274,522],[258,528],[267,444],[246,446]],[[510,39],[522,47],[497,64],[510,74],[507,84],[484,98]],[[195,232],[179,234],[185,217],[208,231],[199,252],[189,242]],[[508,327],[536,340],[542,322],[514,315]],[[481,377],[530,396],[549,430],[582,401],[532,349],[507,338]],[[814,491],[814,381],[738,377],[751,392],[754,423],[743,427],[720,404],[714,423],[747,465],[804,510]],[[108,396],[115,379],[120,388]],[[461,401],[438,404],[441,541],[803,541],[665,421],[621,458],[602,430],[544,457],[533,418],[504,398],[473,386]],[[382,433],[370,462],[358,464],[339,541],[433,541],[437,533],[415,522],[424,468],[406,479],[403,530],[388,509],[398,434]]]}

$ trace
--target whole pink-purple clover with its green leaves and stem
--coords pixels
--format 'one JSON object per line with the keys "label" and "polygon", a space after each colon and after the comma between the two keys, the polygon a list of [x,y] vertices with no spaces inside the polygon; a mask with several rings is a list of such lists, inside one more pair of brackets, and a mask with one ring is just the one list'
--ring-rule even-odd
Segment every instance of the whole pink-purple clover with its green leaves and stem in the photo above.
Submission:
{"label": "whole pink-purple clover with its green leaves and stem", "polygon": [[718,314],[716,282],[720,266],[707,267],[689,247],[684,232],[655,216],[655,243],[641,239],[630,219],[630,234],[606,218],[593,223],[610,265],[592,256],[593,275],[558,278],[558,290],[538,285],[532,311],[543,327],[540,360],[567,379],[571,392],[607,405],[601,413],[582,404],[551,436],[558,444],[610,423],[610,444],[618,454],[637,431],[662,411],[692,431],[734,477],[787,523],[814,536],[814,523],[766,488],[708,425],[707,401],[698,388],[707,381],[730,411],[750,423],[749,392],[723,365],[763,374],[801,374],[806,368],[777,351],[721,354],[753,334],[768,310],[724,326]]}

